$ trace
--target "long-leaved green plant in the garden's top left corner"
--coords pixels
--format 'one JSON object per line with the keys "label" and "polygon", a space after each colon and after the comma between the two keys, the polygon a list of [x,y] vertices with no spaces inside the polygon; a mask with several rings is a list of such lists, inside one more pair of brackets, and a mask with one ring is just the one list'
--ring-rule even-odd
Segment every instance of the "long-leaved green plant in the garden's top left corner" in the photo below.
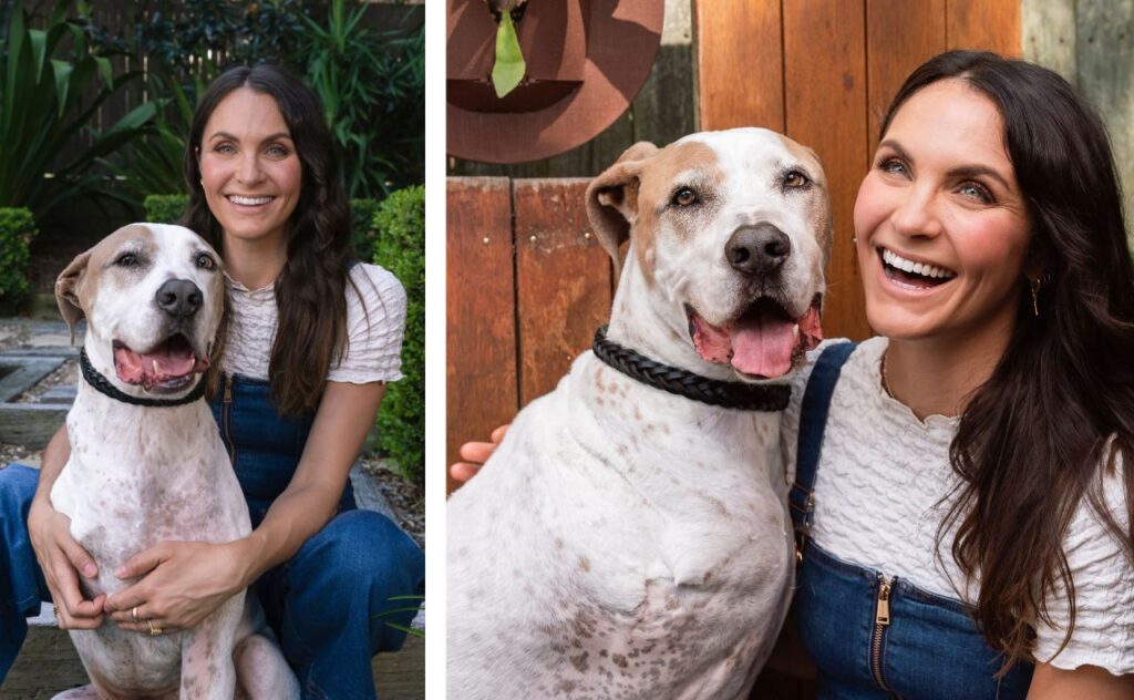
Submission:
{"label": "long-leaved green plant in the garden's top left corner", "polygon": [[[36,217],[82,193],[124,200],[92,166],[137,138],[155,112],[145,103],[104,132],[90,126],[99,107],[139,74],[115,75],[110,59],[88,49],[82,22],[68,18],[69,7],[57,2],[39,29],[17,3],[0,37],[0,206],[26,206]],[[88,5],[78,11],[90,15]],[[64,158],[81,134],[90,146]]]}

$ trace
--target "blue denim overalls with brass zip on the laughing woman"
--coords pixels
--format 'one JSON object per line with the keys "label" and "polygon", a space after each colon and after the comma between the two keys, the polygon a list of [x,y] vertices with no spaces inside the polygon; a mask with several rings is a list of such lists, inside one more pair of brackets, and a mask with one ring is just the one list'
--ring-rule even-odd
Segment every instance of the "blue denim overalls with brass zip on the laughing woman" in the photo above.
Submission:
{"label": "blue denim overalls with brass zip on the laughing woman", "polygon": [[996,678],[1002,658],[985,643],[962,601],[844,562],[806,539],[831,395],[854,347],[827,347],[807,381],[790,494],[803,556],[796,570],[796,619],[819,669],[819,697],[1024,698],[1032,666],[1017,664]]}

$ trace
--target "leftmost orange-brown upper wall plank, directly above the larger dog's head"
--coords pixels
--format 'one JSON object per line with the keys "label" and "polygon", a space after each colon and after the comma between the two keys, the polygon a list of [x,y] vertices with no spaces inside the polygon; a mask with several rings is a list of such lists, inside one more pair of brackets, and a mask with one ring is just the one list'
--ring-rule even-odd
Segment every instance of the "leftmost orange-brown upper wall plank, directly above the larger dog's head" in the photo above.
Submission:
{"label": "leftmost orange-brown upper wall plank, directly above the larger dog's head", "polygon": [[[701,129],[763,126],[782,132],[780,3],[701,0],[696,12]],[[812,50],[816,45],[822,44]]]}

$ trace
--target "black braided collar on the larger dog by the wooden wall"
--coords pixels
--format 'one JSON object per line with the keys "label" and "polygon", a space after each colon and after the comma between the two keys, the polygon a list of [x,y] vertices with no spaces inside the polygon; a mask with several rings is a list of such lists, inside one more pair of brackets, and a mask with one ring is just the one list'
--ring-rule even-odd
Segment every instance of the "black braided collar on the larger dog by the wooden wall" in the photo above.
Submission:
{"label": "black braided collar on the larger dog by the wooden wall", "polygon": [[741,411],[782,411],[792,398],[789,385],[750,385],[720,381],[662,364],[607,339],[607,327],[594,331],[594,355],[619,372],[644,385],[685,398]]}

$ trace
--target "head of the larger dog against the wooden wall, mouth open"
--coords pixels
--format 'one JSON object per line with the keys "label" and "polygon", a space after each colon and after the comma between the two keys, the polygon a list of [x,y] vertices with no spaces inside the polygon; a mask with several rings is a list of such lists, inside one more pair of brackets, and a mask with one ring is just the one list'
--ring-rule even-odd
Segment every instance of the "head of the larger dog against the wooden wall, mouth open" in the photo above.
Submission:
{"label": "head of the larger dog against the wooden wall, mouth open", "polygon": [[810,149],[758,128],[638,143],[586,201],[615,262],[628,236],[645,284],[672,306],[666,318],[705,361],[771,379],[822,338],[831,208]]}

